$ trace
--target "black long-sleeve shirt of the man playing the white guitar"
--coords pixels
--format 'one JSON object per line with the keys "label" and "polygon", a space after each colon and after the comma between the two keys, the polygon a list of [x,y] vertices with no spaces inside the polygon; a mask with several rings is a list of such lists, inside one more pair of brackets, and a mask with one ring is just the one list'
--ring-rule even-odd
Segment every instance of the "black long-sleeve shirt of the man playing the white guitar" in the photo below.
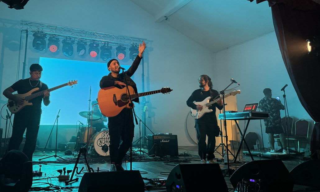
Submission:
{"label": "black long-sleeve shirt of the man playing the white guitar", "polygon": [[[197,89],[194,91],[189,99],[187,100],[187,105],[193,109],[196,109],[196,104],[193,101],[200,102],[203,101],[205,98],[210,97],[210,91],[212,92],[212,99],[214,99],[219,93],[214,89],[210,89],[209,91],[202,91],[202,89]],[[202,93],[202,94],[201,94]],[[220,98],[220,96],[218,97]],[[212,101],[212,99],[210,101]],[[218,105],[218,103],[214,103],[209,109],[213,111],[211,113],[204,114],[200,119],[201,121],[211,122],[212,120],[217,121],[216,117],[216,107],[221,110],[223,106]]]}

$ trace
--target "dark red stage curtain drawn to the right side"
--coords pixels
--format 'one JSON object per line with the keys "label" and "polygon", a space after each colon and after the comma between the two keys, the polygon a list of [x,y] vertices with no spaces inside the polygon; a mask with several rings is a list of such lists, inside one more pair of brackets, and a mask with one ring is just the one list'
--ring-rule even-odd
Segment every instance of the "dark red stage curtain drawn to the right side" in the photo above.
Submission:
{"label": "dark red stage curtain drawn to the right side", "polygon": [[311,140],[314,153],[320,146],[320,55],[308,54],[306,39],[320,40],[320,4],[312,0],[268,2],[284,65],[302,106],[317,122]]}

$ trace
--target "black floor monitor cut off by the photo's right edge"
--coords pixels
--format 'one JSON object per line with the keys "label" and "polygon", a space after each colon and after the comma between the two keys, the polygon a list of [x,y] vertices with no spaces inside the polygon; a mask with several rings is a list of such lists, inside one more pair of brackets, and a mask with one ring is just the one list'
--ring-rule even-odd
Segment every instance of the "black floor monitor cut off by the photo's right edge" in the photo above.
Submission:
{"label": "black floor monitor cut off by the photo's right edge", "polygon": [[294,184],[320,188],[320,159],[303,162],[290,171]]}

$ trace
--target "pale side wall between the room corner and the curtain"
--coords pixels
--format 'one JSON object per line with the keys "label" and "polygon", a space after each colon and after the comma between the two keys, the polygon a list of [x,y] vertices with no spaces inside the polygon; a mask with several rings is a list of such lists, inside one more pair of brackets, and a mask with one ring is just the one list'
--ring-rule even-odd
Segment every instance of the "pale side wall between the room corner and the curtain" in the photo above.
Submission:
{"label": "pale side wall between the room corner and the curtain", "polygon": [[[224,89],[230,78],[235,79],[240,87],[241,94],[237,95],[238,111],[243,111],[244,105],[258,103],[263,97],[263,89],[270,88],[272,97],[280,96],[283,103],[283,92],[285,88],[289,115],[295,120],[304,118],[310,122],[310,130],[313,128],[313,120],[300,104],[298,96],[292,86],[287,70],[282,60],[281,52],[275,32],[253,39],[249,42],[239,44],[232,48],[215,53],[216,76],[218,90]],[[281,110],[284,116],[284,110]],[[242,130],[244,122],[239,122]],[[268,134],[265,133],[265,126],[262,121],[262,131],[265,147],[268,143]],[[260,121],[251,121],[248,132],[256,132],[261,140]]]}

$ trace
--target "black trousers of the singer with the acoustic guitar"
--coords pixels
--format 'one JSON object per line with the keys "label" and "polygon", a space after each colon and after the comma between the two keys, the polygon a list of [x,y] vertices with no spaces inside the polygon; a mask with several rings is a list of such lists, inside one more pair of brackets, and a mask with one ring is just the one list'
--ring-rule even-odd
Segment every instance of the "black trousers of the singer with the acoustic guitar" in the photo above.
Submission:
{"label": "black trousers of the singer with the acoustic guitar", "polygon": [[122,164],[122,159],[126,152],[128,152],[134,135],[132,110],[123,109],[119,115],[109,117],[108,128],[110,135],[110,160],[112,163]]}

